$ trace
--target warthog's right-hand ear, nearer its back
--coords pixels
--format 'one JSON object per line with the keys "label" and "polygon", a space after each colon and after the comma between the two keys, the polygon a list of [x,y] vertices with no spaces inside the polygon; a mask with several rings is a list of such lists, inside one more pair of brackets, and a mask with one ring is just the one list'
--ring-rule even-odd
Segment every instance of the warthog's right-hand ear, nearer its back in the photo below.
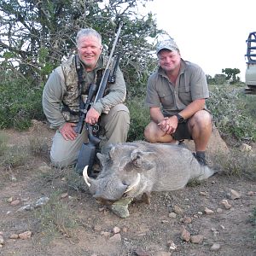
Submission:
{"label": "warthog's right-hand ear, nearer its back", "polygon": [[146,170],[153,168],[153,163],[148,159],[154,152],[135,149],[131,152],[131,161],[137,168],[144,167]]}

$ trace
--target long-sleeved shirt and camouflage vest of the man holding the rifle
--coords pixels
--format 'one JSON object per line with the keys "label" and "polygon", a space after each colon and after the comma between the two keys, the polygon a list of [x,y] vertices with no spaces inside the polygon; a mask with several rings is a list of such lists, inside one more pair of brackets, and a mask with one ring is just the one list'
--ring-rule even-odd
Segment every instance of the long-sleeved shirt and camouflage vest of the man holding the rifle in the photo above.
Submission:
{"label": "long-sleeved shirt and camouflage vest of the man holding the rifle", "polygon": [[[79,121],[79,95],[85,94],[89,84],[96,82],[96,73],[104,68],[103,57],[97,62],[96,68],[90,72],[83,72],[84,86],[78,88],[78,75],[75,66],[75,57],[64,61],[60,67],[55,68],[43,91],[44,114],[52,128],[58,128],[65,122]],[[82,67],[83,63],[80,61]],[[116,80],[110,84],[108,94],[99,99],[93,108],[100,114],[108,113],[113,106],[125,102],[126,87],[123,74],[117,69]],[[64,107],[64,108],[63,108]]]}

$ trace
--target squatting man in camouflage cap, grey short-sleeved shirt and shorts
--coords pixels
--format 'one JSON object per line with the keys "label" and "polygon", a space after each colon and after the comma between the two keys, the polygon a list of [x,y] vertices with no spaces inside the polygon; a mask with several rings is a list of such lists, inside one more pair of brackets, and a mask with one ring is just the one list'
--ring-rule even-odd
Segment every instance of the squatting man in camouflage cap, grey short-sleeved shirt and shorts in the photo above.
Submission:
{"label": "squatting man in camouflage cap, grey short-sleeved shirt and shorts", "polygon": [[212,133],[206,75],[198,65],[183,61],[173,39],[157,44],[156,54],[159,67],[148,79],[146,103],[151,121],[144,136],[150,143],[193,139],[195,157],[206,165],[205,151]]}

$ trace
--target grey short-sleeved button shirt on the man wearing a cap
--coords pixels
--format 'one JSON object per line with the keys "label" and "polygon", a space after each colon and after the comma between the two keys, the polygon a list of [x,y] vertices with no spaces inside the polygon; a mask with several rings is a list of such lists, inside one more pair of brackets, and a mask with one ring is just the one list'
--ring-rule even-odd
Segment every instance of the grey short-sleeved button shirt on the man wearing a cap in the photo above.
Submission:
{"label": "grey short-sleeved button shirt on the man wearing a cap", "polygon": [[186,108],[189,103],[208,97],[207,77],[201,67],[181,60],[175,86],[161,67],[150,75],[145,102],[149,108],[161,108],[165,116],[170,116]]}

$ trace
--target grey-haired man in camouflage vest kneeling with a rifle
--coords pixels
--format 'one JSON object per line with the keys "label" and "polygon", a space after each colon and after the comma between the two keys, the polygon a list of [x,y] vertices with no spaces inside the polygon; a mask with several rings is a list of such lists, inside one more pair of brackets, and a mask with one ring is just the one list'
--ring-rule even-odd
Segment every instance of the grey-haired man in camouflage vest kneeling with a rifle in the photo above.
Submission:
{"label": "grey-haired man in camouflage vest kneeling with a rifle", "polygon": [[[50,150],[50,159],[55,166],[64,167],[76,163],[79,150],[88,139],[84,128],[77,134],[74,128],[79,122],[80,96],[88,96],[90,84],[99,82],[108,58],[102,56],[102,37],[91,28],[78,32],[78,55],[61,63],[50,74],[43,92],[43,109],[52,128],[56,129]],[[82,68],[82,82],[78,84],[77,68]],[[125,143],[130,114],[125,102],[126,87],[123,74],[117,68],[115,82],[109,84],[108,92],[93,103],[86,114],[89,125],[99,123],[102,127],[102,153],[108,152],[112,143]]]}

